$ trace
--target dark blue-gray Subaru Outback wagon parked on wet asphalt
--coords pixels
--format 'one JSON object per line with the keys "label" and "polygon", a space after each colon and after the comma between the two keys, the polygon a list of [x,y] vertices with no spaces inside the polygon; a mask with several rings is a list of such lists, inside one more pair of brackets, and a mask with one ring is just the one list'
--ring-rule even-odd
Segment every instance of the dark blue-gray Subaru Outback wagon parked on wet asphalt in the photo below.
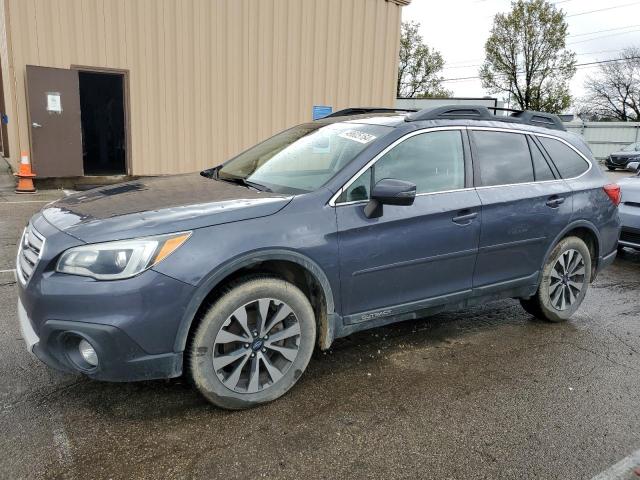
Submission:
{"label": "dark blue-gray Subaru Outback wagon parked on wet asphalt", "polygon": [[566,320],[616,255],[606,183],[553,115],[342,111],[47,205],[20,243],[19,321],[51,367],[185,374],[251,407],[358,330],[507,297]]}

